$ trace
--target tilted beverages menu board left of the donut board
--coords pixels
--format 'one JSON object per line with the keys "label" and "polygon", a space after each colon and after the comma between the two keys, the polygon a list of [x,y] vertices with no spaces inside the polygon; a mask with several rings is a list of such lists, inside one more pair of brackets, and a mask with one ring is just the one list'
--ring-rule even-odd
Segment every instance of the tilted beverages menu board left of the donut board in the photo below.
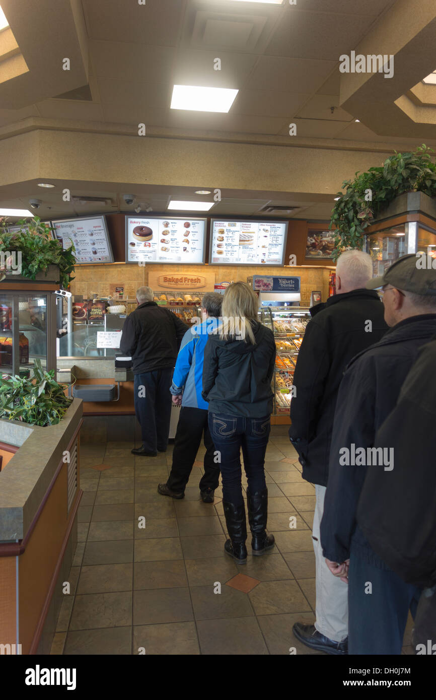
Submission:
{"label": "tilted beverages menu board left of the donut board", "polygon": [[55,237],[62,241],[64,250],[74,244],[76,263],[101,265],[113,262],[111,243],[104,216],[52,221]]}

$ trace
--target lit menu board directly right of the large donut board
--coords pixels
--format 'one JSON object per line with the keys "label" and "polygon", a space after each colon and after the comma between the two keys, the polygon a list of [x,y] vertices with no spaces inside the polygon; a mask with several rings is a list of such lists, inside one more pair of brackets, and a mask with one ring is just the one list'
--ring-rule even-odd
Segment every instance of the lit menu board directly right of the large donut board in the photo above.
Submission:
{"label": "lit menu board directly right of the large donut board", "polygon": [[211,221],[211,265],[283,265],[288,224]]}

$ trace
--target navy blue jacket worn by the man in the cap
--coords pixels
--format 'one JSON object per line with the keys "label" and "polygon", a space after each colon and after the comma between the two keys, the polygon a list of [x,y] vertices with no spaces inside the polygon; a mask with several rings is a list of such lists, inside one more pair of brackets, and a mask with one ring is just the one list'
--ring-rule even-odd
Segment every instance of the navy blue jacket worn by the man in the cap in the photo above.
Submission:
{"label": "navy blue jacket worn by the man in the cap", "polygon": [[[353,358],[347,367],[337,396],[321,521],[323,554],[331,561],[345,561],[352,552],[372,566],[387,568],[356,527],[366,470],[384,471],[384,466],[342,465],[339,460],[344,453],[340,450],[351,449],[352,444],[356,449],[374,446],[377,430],[395,407],[420,347],[435,332],[436,314],[406,318],[390,328],[378,343]],[[410,439],[416,440],[416,435],[410,435]]]}

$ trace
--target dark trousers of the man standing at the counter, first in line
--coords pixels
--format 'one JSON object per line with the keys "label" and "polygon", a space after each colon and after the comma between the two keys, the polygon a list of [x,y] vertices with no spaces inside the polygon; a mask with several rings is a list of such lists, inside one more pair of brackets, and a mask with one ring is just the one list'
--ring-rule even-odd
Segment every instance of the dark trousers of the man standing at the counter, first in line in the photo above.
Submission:
{"label": "dark trousers of the man standing at the counter, first in line", "polygon": [[149,452],[167,449],[172,376],[170,367],[134,376],[135,413],[141,426],[143,447]]}

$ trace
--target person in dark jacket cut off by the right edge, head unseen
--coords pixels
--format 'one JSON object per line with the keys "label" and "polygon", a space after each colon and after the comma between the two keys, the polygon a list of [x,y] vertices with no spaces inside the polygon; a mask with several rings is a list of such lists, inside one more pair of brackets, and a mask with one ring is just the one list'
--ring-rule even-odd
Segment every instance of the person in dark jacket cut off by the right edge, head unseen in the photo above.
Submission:
{"label": "person in dark jacket cut off by the right edge, head unseen", "polygon": [[367,470],[357,512],[374,552],[403,581],[424,589],[415,617],[416,654],[436,651],[435,398],[436,339],[419,351],[377,432],[375,447],[393,447],[395,469]]}

